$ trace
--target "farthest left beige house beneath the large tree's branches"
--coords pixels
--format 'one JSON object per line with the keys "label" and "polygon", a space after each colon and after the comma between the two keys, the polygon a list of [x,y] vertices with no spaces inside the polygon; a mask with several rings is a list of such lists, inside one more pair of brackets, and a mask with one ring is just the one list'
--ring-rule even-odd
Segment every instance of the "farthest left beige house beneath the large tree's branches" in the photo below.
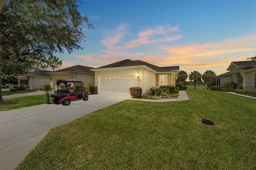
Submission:
{"label": "farthest left beige house beneath the large tree's branches", "polygon": [[38,70],[22,75],[16,76],[20,85],[29,85],[30,89],[40,89],[42,84],[50,84],[50,75],[51,71]]}

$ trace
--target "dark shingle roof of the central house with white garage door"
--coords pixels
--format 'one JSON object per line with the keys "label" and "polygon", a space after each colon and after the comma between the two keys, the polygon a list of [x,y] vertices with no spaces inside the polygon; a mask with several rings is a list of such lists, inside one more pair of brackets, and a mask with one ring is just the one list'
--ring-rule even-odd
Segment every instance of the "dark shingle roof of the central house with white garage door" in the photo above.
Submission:
{"label": "dark shingle roof of the central house with white garage door", "polygon": [[138,66],[146,65],[147,67],[149,67],[155,71],[158,71],[158,72],[170,72],[173,70],[180,69],[180,66],[158,67],[156,65],[152,65],[152,64],[144,62],[144,61],[140,61],[140,60],[132,61],[130,59],[125,59],[122,61],[118,61],[116,63],[104,65],[102,67],[98,67],[97,69],[114,68],[114,67],[128,67],[128,66],[137,66],[137,65]]}

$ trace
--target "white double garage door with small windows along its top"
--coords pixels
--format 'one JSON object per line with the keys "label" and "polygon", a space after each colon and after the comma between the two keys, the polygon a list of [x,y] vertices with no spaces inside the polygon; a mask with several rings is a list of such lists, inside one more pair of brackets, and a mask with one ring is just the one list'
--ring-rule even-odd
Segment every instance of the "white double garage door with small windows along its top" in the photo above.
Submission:
{"label": "white double garage door with small windows along its top", "polygon": [[100,77],[100,93],[130,94],[130,87],[135,85],[135,75]]}

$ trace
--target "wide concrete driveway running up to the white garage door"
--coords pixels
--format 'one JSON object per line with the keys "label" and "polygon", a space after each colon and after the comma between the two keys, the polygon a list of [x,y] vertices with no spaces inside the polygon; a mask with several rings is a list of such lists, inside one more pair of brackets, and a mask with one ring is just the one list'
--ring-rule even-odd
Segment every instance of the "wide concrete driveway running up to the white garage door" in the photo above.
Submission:
{"label": "wide concrete driveway running up to the white garage door", "polygon": [[89,95],[69,106],[43,104],[0,112],[0,169],[12,170],[50,129],[130,99],[130,95]]}

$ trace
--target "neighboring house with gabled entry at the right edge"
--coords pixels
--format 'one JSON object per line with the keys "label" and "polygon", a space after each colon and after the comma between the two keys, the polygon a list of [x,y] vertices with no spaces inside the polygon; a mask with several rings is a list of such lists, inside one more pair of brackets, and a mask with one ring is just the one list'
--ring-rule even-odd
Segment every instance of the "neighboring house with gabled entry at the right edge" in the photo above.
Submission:
{"label": "neighboring house with gabled entry at the right edge", "polygon": [[235,61],[227,68],[227,73],[216,76],[216,85],[226,81],[237,83],[237,89],[256,90],[256,61]]}

